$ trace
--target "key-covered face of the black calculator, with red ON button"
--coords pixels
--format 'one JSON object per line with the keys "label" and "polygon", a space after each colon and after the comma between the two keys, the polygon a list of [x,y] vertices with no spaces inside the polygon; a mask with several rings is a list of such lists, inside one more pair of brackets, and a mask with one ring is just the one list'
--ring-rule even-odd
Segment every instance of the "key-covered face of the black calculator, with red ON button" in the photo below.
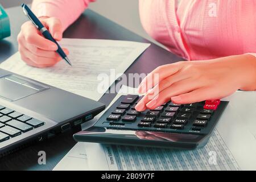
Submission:
{"label": "key-covered face of the black calculator, with red ON button", "polygon": [[137,95],[121,96],[94,126],[118,130],[208,134],[228,104],[220,100],[185,105],[167,102],[153,110],[138,112],[135,105],[141,98]]}

